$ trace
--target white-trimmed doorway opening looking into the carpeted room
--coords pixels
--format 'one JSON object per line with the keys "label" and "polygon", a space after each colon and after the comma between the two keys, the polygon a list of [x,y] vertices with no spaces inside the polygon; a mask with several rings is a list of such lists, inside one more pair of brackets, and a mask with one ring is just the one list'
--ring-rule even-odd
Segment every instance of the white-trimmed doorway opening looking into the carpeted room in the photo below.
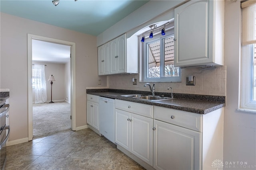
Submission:
{"label": "white-trimmed doorway opening looking into the carpeted room", "polygon": [[[49,54],[42,54],[43,57],[40,57],[39,55],[35,55],[34,52],[36,51],[37,45],[40,46],[40,48],[38,49],[39,54],[44,53],[45,51],[50,52],[50,57],[48,59],[46,56]],[[61,58],[54,60],[54,55],[58,55],[56,54],[58,53],[58,47],[66,48],[66,52],[69,53],[69,54],[66,54],[68,55],[68,57],[66,57],[66,59],[63,59],[63,61],[61,61],[62,60]],[[59,51],[59,53],[61,52]],[[39,64],[45,67],[44,80],[46,83],[47,100],[46,102],[43,102],[43,104],[36,104],[36,99],[34,97],[35,84],[33,83],[36,77],[33,75],[33,71],[34,71],[33,69],[35,65],[32,65],[32,64],[36,64],[36,66],[38,66]],[[54,76],[55,81],[54,80],[51,81],[52,79],[49,78],[49,76],[51,77],[52,75]],[[48,78],[49,78],[49,81],[48,81]],[[58,131],[64,131],[65,128],[67,127],[71,128],[73,131],[76,130],[76,121],[75,121],[76,109],[75,109],[75,100],[74,100],[75,88],[73,88],[74,86],[75,86],[75,43],[28,34],[28,140],[29,141],[31,141],[33,137],[39,137],[47,134],[57,133]],[[37,116],[36,116],[36,112],[37,112]],[[62,117],[62,118],[57,118],[57,117]],[[56,121],[60,121],[60,119],[64,120],[63,117],[65,117],[66,121],[59,124],[60,125],[59,130],[57,127],[54,129],[54,125],[52,124],[56,123]],[[48,119],[48,120],[45,120],[45,119]],[[55,119],[55,120],[52,121],[52,119]],[[43,122],[44,120],[45,122]],[[38,122],[35,122],[35,121],[38,121]],[[48,122],[49,126],[43,125],[46,122]],[[37,129],[39,130],[37,132],[33,131],[34,127],[37,126],[36,123],[38,123]],[[52,126],[53,128],[51,128],[50,126]],[[44,133],[40,134],[41,133],[40,131],[44,131]]]}

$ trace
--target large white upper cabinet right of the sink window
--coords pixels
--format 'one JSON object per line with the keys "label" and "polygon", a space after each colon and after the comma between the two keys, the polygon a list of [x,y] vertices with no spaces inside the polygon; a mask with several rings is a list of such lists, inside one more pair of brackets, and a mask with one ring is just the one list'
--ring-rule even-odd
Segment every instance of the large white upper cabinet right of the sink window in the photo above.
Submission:
{"label": "large white upper cabinet right of the sink window", "polygon": [[224,64],[224,1],[193,0],[174,9],[174,65]]}

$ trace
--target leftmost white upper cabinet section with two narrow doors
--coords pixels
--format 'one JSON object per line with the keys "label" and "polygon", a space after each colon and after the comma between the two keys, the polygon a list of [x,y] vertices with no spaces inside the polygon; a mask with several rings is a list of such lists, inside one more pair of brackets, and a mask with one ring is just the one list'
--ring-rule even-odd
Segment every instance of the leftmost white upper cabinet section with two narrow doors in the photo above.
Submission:
{"label": "leftmost white upper cabinet section with two narrow doors", "polygon": [[98,47],[98,75],[109,74],[109,42]]}

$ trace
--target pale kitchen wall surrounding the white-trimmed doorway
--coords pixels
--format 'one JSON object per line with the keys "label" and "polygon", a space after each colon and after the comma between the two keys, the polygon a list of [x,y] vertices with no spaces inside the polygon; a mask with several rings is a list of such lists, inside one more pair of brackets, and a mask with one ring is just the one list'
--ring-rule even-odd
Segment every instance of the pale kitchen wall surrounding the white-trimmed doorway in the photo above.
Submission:
{"label": "pale kitchen wall surrounding the white-trimmed doorway", "polygon": [[28,138],[28,33],[76,43],[76,127],[86,125],[86,87],[106,86],[106,77],[98,77],[96,37],[4,13],[0,29],[0,88],[10,89],[9,141]]}

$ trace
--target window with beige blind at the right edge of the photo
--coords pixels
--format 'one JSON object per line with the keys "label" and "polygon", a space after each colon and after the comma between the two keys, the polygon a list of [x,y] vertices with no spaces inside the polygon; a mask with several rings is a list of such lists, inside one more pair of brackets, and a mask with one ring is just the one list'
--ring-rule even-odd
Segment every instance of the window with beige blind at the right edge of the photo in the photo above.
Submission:
{"label": "window with beige blind at the right edge of the photo", "polygon": [[241,100],[238,110],[256,113],[256,2],[242,7]]}

